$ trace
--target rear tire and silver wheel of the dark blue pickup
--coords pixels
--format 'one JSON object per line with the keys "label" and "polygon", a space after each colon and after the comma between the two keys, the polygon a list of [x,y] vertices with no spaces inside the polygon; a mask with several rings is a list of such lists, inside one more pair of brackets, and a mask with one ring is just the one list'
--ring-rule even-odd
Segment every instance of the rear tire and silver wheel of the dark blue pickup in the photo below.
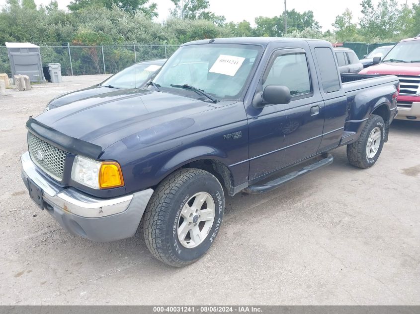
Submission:
{"label": "rear tire and silver wheel of the dark blue pickup", "polygon": [[381,154],[384,139],[384,120],[378,115],[371,115],[358,140],[347,145],[348,162],[362,169],[372,167]]}

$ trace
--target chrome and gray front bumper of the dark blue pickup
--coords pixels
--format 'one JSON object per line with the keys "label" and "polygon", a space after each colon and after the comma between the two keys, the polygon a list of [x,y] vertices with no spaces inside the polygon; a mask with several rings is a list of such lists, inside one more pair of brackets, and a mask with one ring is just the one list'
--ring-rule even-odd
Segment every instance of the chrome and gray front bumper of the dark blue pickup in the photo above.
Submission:
{"label": "chrome and gray front bumper of the dark blue pickup", "polygon": [[43,209],[71,234],[96,242],[111,242],[136,233],[153,189],[115,198],[97,198],[46,179],[28,152],[20,159],[26,188],[30,188],[30,181],[42,190]]}

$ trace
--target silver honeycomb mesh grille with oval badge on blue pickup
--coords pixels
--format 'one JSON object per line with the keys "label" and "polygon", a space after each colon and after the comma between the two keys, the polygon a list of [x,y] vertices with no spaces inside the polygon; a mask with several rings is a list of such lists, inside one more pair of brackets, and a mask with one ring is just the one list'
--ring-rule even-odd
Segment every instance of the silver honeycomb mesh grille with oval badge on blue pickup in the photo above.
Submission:
{"label": "silver honeycomb mesh grille with oval badge on blue pickup", "polygon": [[43,141],[31,132],[28,132],[28,148],[32,161],[41,170],[57,181],[63,179],[65,151]]}

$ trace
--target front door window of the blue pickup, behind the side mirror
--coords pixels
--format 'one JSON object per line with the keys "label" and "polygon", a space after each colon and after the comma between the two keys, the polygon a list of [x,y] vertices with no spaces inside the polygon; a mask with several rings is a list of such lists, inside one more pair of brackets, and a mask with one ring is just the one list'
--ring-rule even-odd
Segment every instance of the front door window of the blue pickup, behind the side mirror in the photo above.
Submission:
{"label": "front door window of the blue pickup, behind the side mirror", "polygon": [[310,93],[311,80],[305,53],[290,53],[276,57],[263,82],[263,88],[267,85],[286,86],[292,97]]}

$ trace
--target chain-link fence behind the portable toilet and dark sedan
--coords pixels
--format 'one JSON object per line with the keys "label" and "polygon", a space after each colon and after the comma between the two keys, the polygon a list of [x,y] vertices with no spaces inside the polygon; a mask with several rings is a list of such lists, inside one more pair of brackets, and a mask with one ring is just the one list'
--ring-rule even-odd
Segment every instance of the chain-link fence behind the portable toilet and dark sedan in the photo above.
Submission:
{"label": "chain-link fence behind the portable toilet and dark sedan", "polygon": [[[62,75],[116,73],[127,66],[169,58],[178,45],[40,45],[42,65],[60,63]],[[0,46],[0,73],[11,77],[7,48]]]}

